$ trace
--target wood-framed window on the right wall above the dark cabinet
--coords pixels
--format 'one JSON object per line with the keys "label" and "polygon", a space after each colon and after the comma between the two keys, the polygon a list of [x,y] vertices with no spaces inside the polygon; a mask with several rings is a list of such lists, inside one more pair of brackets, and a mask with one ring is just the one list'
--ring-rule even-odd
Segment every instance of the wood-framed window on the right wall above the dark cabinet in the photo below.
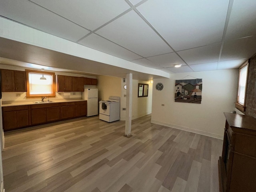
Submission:
{"label": "wood-framed window on the right wall above the dark cabinet", "polygon": [[245,111],[245,98],[246,98],[246,82],[248,74],[248,62],[244,63],[239,68],[239,79],[238,79],[238,92],[236,108],[240,111]]}

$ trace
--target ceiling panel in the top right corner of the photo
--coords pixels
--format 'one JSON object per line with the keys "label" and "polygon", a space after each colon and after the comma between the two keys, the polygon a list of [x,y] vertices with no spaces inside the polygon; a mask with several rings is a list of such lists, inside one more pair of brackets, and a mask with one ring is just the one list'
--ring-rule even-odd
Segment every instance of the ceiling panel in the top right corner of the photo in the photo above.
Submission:
{"label": "ceiling panel in the top right corner of the photo", "polygon": [[235,0],[225,39],[256,35],[256,1]]}

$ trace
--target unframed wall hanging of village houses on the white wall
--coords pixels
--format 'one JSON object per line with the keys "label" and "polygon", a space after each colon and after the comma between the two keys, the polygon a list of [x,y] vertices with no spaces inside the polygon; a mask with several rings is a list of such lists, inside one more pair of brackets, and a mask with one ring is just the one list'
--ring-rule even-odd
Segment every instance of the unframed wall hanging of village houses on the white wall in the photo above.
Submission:
{"label": "unframed wall hanging of village houses on the white wall", "polygon": [[198,103],[202,101],[202,79],[175,81],[175,102]]}

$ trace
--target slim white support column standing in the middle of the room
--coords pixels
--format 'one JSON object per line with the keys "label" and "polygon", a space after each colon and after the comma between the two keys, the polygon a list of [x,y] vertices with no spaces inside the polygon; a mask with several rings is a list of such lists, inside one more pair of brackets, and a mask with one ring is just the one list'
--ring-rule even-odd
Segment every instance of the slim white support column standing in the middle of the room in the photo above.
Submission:
{"label": "slim white support column standing in the middle of the room", "polygon": [[126,74],[126,118],[125,118],[125,137],[131,137],[132,128],[132,73]]}

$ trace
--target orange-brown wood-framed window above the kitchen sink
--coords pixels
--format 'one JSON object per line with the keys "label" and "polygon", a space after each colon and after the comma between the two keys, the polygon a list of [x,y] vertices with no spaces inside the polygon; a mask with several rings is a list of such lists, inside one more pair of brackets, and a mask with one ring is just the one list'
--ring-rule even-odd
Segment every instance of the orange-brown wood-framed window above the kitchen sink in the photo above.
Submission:
{"label": "orange-brown wood-framed window above the kitchen sink", "polygon": [[40,72],[26,70],[27,97],[31,96],[55,96],[55,74],[52,72]]}

